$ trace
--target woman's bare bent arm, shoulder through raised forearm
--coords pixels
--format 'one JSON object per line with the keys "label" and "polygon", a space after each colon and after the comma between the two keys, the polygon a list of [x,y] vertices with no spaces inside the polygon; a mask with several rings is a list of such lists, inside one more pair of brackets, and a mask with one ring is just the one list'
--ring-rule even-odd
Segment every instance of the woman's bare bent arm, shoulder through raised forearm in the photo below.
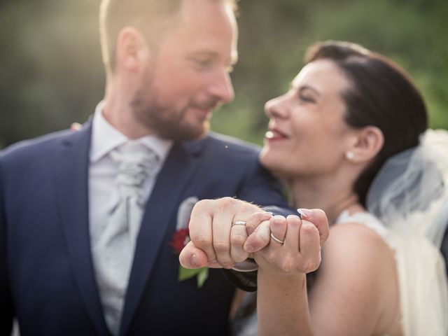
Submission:
{"label": "woman's bare bent arm, shoulder through raised forearm", "polygon": [[[257,258],[257,254],[263,251],[255,254],[260,266],[260,335],[384,333],[393,323],[398,309],[395,264],[390,248],[381,237],[362,225],[335,225],[323,248],[323,261],[308,296],[304,276],[306,269],[291,266],[294,265],[290,261],[294,260],[291,253],[294,239],[289,240],[291,250],[286,248],[288,236],[296,239],[299,236],[297,262],[302,251],[307,249],[302,245],[305,241],[303,228],[304,225],[297,231],[288,221],[285,244],[277,246],[276,253],[272,252],[269,258],[265,258],[269,265]],[[312,241],[312,233],[309,232],[309,235],[307,241]],[[274,244],[271,242],[269,246]],[[393,307],[386,308],[388,306]]]}

